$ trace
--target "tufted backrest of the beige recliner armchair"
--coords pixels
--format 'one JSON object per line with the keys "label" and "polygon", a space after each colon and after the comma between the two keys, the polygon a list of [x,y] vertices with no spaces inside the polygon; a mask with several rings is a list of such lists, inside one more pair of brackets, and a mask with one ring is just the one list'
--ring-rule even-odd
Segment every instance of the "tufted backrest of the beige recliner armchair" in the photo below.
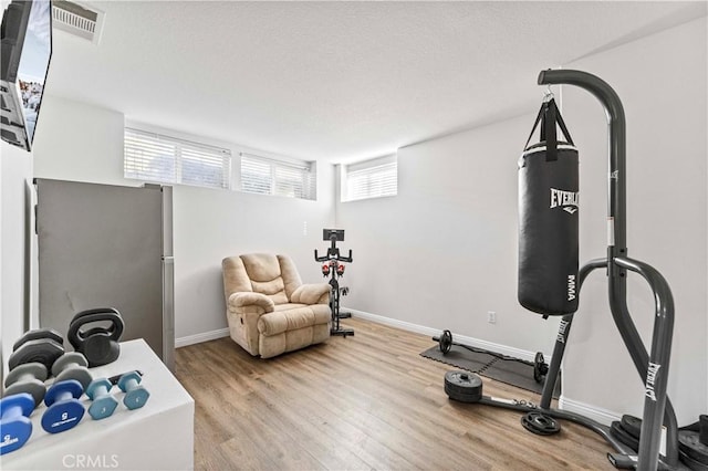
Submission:
{"label": "tufted backrest of the beige recliner armchair", "polygon": [[232,293],[256,292],[269,296],[275,304],[284,304],[302,284],[288,255],[250,253],[226,258],[221,265],[227,302]]}

